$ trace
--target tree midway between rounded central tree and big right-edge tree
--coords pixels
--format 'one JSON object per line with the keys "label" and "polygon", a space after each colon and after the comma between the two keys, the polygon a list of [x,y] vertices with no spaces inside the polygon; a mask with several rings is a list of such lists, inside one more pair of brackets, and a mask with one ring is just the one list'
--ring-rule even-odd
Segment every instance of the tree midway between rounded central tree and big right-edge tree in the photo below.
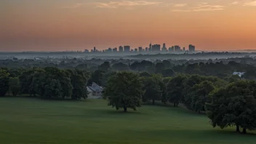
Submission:
{"label": "tree midway between rounded central tree and big right-edge tree", "polygon": [[171,79],[167,84],[167,99],[170,103],[173,103],[175,107],[179,105],[183,98],[183,81],[185,81],[186,76],[178,75]]}

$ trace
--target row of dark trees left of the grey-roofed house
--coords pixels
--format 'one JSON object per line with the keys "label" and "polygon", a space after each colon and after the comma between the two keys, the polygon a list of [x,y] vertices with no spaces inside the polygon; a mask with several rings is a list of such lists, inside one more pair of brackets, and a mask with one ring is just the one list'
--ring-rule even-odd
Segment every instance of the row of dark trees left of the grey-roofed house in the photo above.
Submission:
{"label": "row of dark trees left of the grey-roofed house", "polygon": [[0,68],[0,96],[7,93],[31,95],[46,99],[87,98],[88,74],[80,70],[32,68],[12,70]]}

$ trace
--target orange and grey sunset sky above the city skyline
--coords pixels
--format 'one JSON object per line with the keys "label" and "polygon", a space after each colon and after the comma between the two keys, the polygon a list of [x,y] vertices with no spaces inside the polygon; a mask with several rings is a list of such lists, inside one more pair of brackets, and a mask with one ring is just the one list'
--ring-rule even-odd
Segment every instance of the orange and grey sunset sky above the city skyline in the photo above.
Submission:
{"label": "orange and grey sunset sky above the city skyline", "polygon": [[256,49],[256,0],[1,0],[0,51]]}

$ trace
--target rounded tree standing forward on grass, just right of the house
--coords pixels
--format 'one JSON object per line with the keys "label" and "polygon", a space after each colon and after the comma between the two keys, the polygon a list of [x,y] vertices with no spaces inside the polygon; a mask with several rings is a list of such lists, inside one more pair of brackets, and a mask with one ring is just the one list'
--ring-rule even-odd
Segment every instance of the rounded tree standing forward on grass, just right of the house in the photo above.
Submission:
{"label": "rounded tree standing forward on grass, just right of the house", "polygon": [[108,80],[103,97],[108,99],[108,105],[112,105],[116,110],[127,108],[136,110],[142,105],[143,83],[139,76],[131,72],[119,72]]}

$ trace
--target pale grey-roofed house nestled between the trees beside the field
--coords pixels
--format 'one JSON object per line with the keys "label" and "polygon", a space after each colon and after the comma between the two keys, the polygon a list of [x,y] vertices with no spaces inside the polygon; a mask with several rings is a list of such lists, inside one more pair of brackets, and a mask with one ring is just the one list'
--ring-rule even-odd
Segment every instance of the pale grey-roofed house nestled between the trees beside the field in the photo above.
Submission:
{"label": "pale grey-roofed house nestled between the trees beside the field", "polygon": [[92,82],[91,86],[87,87],[88,98],[89,99],[98,99],[102,98],[103,87],[98,86],[96,83]]}

